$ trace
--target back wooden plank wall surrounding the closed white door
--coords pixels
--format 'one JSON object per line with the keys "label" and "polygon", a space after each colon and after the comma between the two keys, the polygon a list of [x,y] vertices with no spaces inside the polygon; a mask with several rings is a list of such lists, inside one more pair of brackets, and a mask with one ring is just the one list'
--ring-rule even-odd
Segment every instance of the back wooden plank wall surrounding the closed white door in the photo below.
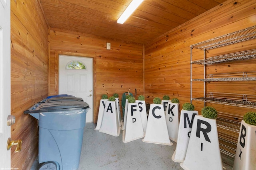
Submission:
{"label": "back wooden plank wall surrounding the closed white door", "polygon": [[[106,50],[106,43],[111,50]],[[94,123],[101,96],[130,92],[143,94],[143,45],[95,35],[50,28],[49,96],[58,94],[58,55],[93,58]]]}

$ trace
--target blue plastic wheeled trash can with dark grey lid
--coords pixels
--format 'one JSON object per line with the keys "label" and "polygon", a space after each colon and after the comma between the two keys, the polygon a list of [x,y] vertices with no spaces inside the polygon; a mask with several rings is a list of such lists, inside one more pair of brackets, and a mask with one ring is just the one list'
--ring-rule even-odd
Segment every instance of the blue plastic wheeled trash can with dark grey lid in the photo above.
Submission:
{"label": "blue plastic wheeled trash can with dark grey lid", "polygon": [[78,169],[88,109],[86,102],[63,100],[37,103],[24,111],[38,119],[39,163],[56,162],[60,170]]}

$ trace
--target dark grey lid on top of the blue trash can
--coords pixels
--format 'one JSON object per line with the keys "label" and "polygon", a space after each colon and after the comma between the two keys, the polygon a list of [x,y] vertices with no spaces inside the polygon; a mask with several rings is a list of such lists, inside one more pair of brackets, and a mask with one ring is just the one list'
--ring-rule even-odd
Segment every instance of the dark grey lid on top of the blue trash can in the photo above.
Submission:
{"label": "dark grey lid on top of the blue trash can", "polygon": [[72,110],[87,109],[87,108],[89,108],[89,105],[86,102],[63,100],[63,101],[57,101],[57,102],[35,104],[34,106],[30,107],[30,109],[24,111],[24,113],[72,111]]}

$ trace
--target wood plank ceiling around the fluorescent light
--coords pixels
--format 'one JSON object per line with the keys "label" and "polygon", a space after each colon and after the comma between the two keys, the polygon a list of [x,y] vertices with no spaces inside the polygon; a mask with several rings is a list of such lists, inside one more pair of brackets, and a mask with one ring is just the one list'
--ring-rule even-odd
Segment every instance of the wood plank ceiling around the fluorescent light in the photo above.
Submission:
{"label": "wood plank ceiling around the fluorescent light", "polygon": [[226,0],[144,0],[124,24],[132,0],[40,0],[50,27],[146,44]]}

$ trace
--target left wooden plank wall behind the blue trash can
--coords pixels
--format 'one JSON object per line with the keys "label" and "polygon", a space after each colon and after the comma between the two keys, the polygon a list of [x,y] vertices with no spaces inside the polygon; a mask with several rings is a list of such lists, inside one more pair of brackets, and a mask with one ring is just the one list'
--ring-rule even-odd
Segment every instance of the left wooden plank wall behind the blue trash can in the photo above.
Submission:
{"label": "left wooden plank wall behind the blue trash can", "polygon": [[48,25],[37,0],[11,0],[11,167],[30,170],[38,154],[38,123],[24,110],[48,96]]}

